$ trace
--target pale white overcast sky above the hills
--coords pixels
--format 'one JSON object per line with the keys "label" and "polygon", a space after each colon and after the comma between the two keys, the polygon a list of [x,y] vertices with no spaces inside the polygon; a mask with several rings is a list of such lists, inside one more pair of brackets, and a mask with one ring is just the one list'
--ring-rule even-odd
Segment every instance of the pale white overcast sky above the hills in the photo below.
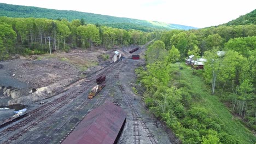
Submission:
{"label": "pale white overcast sky above the hills", "polygon": [[0,0],[0,3],[160,21],[217,26],[256,9],[255,0]]}

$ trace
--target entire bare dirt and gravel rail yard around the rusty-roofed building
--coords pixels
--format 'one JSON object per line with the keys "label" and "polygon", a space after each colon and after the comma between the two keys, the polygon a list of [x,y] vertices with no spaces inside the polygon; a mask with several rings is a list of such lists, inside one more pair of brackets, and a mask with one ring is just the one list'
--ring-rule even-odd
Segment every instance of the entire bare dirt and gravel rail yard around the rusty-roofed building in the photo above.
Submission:
{"label": "entire bare dirt and gravel rail yard around the rusty-roofed building", "polygon": [[[131,55],[143,55],[145,51],[144,47],[140,47],[130,54],[129,51],[135,47],[132,45],[119,49],[124,58],[115,63],[110,63],[111,57],[107,61],[103,61],[101,57],[103,53],[112,56],[113,51],[77,50],[40,56],[32,61],[19,59],[4,62],[5,69],[2,70],[10,81],[15,77],[14,80],[24,83],[24,89],[36,90],[27,96],[10,98],[9,104],[27,104],[27,113],[30,115],[0,128],[0,143],[61,143],[91,110],[104,101],[112,101],[127,112],[125,128],[118,143],[175,141],[170,139],[171,135],[166,132],[164,125],[144,109],[141,96],[133,93],[132,87],[136,85],[134,69],[143,65],[144,59],[133,60]],[[13,66],[7,68],[6,65]],[[89,100],[88,93],[96,85],[95,78],[101,74],[106,75],[106,87]],[[29,80],[25,77],[29,77]],[[39,102],[44,102],[44,105]],[[8,111],[4,114],[6,118],[8,113],[13,112]],[[2,114],[0,110],[0,115]],[[135,123],[138,134],[135,133]],[[19,125],[22,127],[17,128]]]}

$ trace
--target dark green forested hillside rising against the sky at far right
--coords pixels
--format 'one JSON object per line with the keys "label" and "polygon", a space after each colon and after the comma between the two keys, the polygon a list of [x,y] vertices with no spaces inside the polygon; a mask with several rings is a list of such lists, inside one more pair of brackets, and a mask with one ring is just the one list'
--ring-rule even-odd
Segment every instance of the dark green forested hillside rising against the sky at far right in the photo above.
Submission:
{"label": "dark green forested hillside rising against the sky at far right", "polygon": [[251,13],[242,15],[237,19],[226,23],[226,26],[230,26],[230,25],[238,26],[238,25],[250,25],[250,24],[256,25],[256,9],[253,10]]}

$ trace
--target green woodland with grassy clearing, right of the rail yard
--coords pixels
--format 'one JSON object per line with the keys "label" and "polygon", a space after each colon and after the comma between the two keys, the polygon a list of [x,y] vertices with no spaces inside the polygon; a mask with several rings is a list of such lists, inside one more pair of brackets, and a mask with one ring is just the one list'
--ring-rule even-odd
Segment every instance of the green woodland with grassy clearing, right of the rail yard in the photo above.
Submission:
{"label": "green woodland with grassy clearing, right of the rail yard", "polygon": [[[255,41],[256,25],[162,32],[137,91],[183,143],[255,143]],[[190,55],[207,59],[204,69],[185,65]]]}

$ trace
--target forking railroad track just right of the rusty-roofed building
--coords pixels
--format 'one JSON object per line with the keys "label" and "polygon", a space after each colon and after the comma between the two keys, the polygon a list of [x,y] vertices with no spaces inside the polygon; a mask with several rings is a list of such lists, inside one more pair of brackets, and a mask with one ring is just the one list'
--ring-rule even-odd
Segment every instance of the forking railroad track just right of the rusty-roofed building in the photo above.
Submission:
{"label": "forking railroad track just right of the rusty-roofed building", "polygon": [[135,106],[131,102],[131,98],[126,94],[124,87],[120,84],[118,85],[121,93],[124,95],[127,104],[129,105],[132,113],[133,121],[133,133],[134,133],[134,142],[135,144],[140,143],[141,135],[139,133],[139,123],[141,123],[143,130],[146,131],[147,136],[152,144],[157,144],[158,141],[154,138],[154,135],[150,132],[149,128],[146,125],[146,122],[143,121],[142,117],[139,115]]}

